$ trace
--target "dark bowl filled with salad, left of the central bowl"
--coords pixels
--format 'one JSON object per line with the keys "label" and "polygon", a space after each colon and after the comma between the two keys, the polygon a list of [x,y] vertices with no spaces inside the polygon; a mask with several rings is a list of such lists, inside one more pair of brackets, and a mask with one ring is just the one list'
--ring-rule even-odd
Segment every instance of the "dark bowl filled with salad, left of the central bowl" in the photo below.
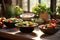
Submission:
{"label": "dark bowl filled with salad, left of the central bowl", "polygon": [[16,27],[15,24],[18,21],[19,20],[17,18],[8,18],[6,20],[3,20],[3,23],[7,26],[7,28],[14,28],[14,27]]}

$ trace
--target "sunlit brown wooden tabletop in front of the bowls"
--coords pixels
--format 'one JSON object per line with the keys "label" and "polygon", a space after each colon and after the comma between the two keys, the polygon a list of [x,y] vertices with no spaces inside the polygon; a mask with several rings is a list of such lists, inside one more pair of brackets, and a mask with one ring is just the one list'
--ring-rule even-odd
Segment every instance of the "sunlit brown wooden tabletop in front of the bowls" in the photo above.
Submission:
{"label": "sunlit brown wooden tabletop in front of the bowls", "polygon": [[60,30],[53,35],[46,35],[37,28],[32,33],[21,33],[16,28],[0,29],[0,36],[13,40],[60,40]]}

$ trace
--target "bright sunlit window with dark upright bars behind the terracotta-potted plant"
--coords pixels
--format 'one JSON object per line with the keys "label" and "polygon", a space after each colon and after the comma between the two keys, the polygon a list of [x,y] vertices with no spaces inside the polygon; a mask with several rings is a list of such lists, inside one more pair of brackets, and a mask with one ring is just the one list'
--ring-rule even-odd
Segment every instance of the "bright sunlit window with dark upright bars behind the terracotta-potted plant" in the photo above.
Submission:
{"label": "bright sunlit window with dark upright bars behind the terracotta-potted plant", "polygon": [[32,8],[35,7],[39,2],[46,3],[46,6],[50,7],[50,0],[22,0],[22,8],[25,11],[32,12]]}

